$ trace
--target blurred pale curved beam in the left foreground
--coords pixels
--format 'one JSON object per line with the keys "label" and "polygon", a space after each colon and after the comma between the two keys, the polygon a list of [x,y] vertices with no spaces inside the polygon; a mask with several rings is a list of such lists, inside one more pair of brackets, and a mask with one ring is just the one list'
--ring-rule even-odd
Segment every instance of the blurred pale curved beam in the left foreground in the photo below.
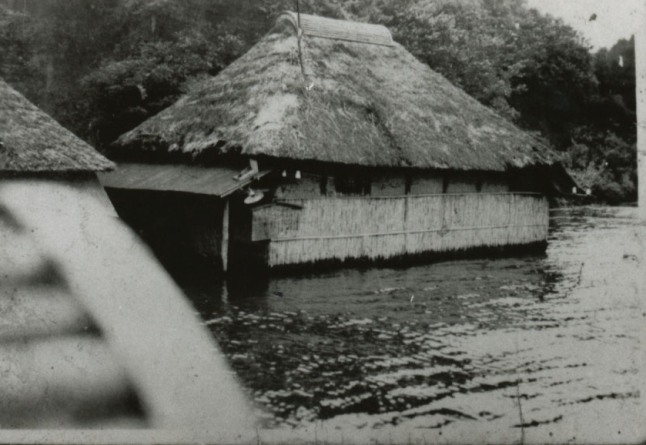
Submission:
{"label": "blurred pale curved beam in the left foreground", "polygon": [[[94,320],[151,427],[251,427],[237,382],[194,310],[109,208],[78,187],[33,179],[1,181],[0,203]],[[11,264],[12,258],[6,260]],[[83,354],[65,358],[76,355]],[[60,366],[58,358],[52,357],[52,366]],[[93,358],[91,353],[70,372],[85,375],[83,365],[93,367]]]}

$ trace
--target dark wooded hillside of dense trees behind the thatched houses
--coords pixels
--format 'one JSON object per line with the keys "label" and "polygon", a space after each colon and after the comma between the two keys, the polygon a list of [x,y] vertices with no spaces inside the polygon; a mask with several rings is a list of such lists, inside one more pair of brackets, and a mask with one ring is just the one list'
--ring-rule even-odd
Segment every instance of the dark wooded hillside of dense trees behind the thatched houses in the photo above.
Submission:
{"label": "dark wooded hillside of dense trees behind the thatched houses", "polygon": [[[296,0],[0,0],[0,77],[101,150],[217,74]],[[593,52],[524,0],[301,0],[381,23],[562,153],[599,200],[636,200],[635,42]]]}

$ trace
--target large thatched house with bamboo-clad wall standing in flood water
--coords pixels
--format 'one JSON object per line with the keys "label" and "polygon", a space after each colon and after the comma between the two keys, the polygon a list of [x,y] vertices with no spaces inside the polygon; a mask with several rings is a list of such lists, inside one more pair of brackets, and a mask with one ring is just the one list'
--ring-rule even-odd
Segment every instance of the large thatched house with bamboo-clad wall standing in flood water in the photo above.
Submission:
{"label": "large thatched house with bamboo-clad wall standing in flood water", "polygon": [[[541,242],[550,174],[563,172],[385,27],[291,12],[112,156],[104,184],[152,238],[183,227],[223,264],[255,252],[269,266]],[[250,180],[265,197],[245,206],[234,192],[253,193]],[[144,204],[175,217],[151,228]]]}

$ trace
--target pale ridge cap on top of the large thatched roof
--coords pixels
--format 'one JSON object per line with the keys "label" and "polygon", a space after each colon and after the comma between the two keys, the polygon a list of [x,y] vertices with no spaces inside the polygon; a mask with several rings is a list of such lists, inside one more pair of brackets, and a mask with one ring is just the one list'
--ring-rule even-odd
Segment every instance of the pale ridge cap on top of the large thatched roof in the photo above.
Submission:
{"label": "pale ridge cap on top of the large thatched roof", "polygon": [[[287,11],[280,17],[287,18],[298,28],[298,14]],[[348,22],[309,14],[300,14],[300,28],[303,34],[328,39],[348,40],[351,42],[371,43],[374,45],[393,44],[393,38],[388,28],[369,23]]]}

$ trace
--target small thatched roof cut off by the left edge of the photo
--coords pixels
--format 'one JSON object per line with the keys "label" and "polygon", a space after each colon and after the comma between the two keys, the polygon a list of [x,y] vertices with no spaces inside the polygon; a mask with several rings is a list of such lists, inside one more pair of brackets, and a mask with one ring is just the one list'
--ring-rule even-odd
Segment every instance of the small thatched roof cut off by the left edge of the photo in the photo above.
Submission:
{"label": "small thatched roof cut off by the left edge of the photo", "polygon": [[0,79],[0,171],[90,172],[113,167]]}

